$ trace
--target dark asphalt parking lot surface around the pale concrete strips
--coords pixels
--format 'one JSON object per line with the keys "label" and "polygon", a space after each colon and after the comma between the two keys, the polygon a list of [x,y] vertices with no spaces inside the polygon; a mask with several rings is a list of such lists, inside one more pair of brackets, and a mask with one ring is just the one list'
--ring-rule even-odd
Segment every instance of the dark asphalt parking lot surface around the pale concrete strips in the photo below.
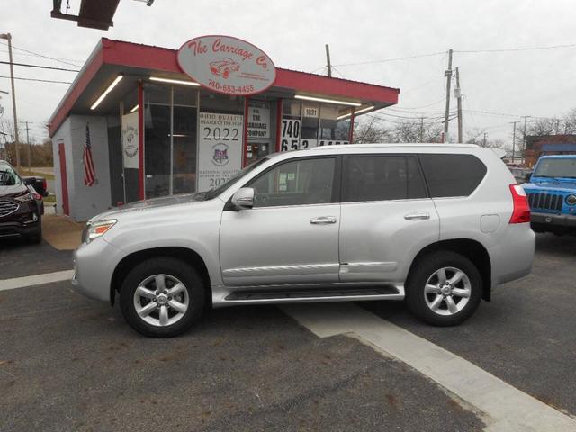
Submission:
{"label": "dark asphalt parking lot surface around the pale concrete strips", "polygon": [[[574,416],[575,257],[573,238],[539,235],[532,275],[456,328],[423,325],[401,302],[361,306]],[[14,242],[0,262],[2,280],[69,269],[70,253]],[[211,311],[183,337],[149,339],[57,282],[0,291],[0,323],[3,432],[487,427],[428,376],[275,307]]]}

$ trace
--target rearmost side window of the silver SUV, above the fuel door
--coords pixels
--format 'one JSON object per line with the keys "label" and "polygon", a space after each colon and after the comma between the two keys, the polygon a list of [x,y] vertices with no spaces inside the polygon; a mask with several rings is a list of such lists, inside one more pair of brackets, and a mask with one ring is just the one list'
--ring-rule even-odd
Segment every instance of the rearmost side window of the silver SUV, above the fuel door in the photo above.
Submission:
{"label": "rearmost side window of the silver SUV, above the fuel door", "polygon": [[419,155],[432,198],[468,196],[487,168],[473,155]]}

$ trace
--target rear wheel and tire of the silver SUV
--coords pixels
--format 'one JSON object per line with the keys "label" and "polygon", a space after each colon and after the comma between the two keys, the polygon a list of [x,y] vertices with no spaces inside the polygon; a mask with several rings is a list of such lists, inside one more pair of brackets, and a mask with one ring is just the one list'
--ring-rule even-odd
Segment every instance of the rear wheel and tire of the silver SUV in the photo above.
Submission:
{"label": "rear wheel and tire of the silver SUV", "polygon": [[[446,275],[444,284],[443,274]],[[482,300],[482,277],[478,268],[468,258],[452,251],[420,257],[410,271],[406,287],[410,311],[434,326],[464,322]]]}

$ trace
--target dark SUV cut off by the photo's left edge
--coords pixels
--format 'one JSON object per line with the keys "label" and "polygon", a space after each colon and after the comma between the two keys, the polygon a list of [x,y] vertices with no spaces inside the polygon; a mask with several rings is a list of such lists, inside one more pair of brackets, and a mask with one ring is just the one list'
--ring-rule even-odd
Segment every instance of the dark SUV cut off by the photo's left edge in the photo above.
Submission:
{"label": "dark SUV cut off by the photo's left edge", "polygon": [[0,239],[23,237],[40,243],[43,205],[39,199],[14,167],[0,160]]}

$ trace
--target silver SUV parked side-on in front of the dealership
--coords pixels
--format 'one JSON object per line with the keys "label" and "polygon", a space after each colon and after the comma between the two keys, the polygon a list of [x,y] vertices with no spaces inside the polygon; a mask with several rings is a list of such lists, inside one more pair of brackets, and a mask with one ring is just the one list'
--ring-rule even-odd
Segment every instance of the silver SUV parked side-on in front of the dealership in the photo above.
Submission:
{"label": "silver SUV parked side-on in front of the dealership", "polygon": [[265,157],[218,189],[90,220],[76,290],[148,336],[206,307],[406,300],[438,326],[530,272],[526,194],[490,148],[349,145]]}

